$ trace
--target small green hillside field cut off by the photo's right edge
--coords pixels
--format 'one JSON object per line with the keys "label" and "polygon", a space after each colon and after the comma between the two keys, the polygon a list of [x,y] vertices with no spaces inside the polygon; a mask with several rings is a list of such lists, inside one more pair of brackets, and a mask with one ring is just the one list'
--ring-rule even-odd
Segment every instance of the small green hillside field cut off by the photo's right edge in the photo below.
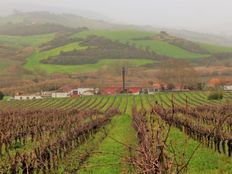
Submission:
{"label": "small green hillside field cut off by the photo's right edge", "polygon": [[201,48],[209,51],[210,53],[220,53],[220,52],[232,52],[232,47],[211,45],[200,43]]}

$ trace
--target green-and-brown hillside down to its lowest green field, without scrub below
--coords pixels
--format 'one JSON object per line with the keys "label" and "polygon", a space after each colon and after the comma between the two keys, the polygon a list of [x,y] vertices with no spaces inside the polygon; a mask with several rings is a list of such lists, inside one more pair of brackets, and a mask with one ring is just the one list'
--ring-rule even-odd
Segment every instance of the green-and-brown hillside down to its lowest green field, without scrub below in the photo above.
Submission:
{"label": "green-and-brown hillside down to its lowest green field, without scrub below", "polygon": [[[37,31],[43,32],[43,29]],[[123,63],[155,69],[166,58],[184,59],[194,66],[206,67],[230,66],[231,61],[230,55],[225,54],[231,52],[230,47],[195,43],[166,32],[87,28],[57,31],[28,36],[0,35],[0,44],[20,49],[33,47],[33,54],[24,57],[18,66],[48,73],[95,72]],[[89,38],[93,35],[108,43],[91,43]],[[3,56],[1,60],[4,60],[2,67],[12,63]]]}

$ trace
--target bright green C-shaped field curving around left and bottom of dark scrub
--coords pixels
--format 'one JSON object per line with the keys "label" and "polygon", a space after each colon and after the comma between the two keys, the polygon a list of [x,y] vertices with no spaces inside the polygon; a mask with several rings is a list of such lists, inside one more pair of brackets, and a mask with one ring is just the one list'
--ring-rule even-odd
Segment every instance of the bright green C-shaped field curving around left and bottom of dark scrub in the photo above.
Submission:
{"label": "bright green C-shaped field curving around left and bottom of dark scrub", "polygon": [[142,66],[150,63],[154,63],[152,60],[146,59],[106,59],[100,60],[96,64],[86,64],[86,65],[51,65],[51,64],[42,64],[41,60],[47,59],[49,57],[57,56],[60,52],[68,52],[73,50],[82,50],[86,49],[81,47],[78,43],[71,43],[59,48],[55,48],[45,52],[34,53],[31,57],[28,58],[27,63],[24,65],[25,68],[29,70],[40,69],[49,73],[60,72],[60,73],[81,73],[81,72],[93,72],[100,70],[103,67],[109,67],[115,63],[129,63],[133,66]]}

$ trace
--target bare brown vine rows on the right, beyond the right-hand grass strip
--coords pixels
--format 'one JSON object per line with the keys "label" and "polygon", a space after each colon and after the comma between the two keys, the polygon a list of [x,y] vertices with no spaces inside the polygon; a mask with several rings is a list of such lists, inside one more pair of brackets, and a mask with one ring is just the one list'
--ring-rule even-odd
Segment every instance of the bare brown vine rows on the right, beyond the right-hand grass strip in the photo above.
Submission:
{"label": "bare brown vine rows on the right, beyond the right-hand grass strip", "polygon": [[[200,143],[228,156],[232,155],[231,106],[211,109],[209,106],[199,108],[164,109],[159,105],[153,107],[168,124],[173,125]],[[227,108],[227,110],[225,110]],[[204,111],[204,112],[203,112]],[[174,113],[174,114],[173,114]]]}

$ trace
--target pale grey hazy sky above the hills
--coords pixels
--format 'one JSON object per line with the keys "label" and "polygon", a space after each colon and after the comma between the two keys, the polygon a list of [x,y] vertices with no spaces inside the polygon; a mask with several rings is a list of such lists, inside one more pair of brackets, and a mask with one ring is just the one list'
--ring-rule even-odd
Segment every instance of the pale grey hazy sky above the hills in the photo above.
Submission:
{"label": "pale grey hazy sky above the hills", "polygon": [[179,29],[225,30],[232,26],[232,0],[0,0],[0,14],[14,9],[87,10],[121,23]]}

